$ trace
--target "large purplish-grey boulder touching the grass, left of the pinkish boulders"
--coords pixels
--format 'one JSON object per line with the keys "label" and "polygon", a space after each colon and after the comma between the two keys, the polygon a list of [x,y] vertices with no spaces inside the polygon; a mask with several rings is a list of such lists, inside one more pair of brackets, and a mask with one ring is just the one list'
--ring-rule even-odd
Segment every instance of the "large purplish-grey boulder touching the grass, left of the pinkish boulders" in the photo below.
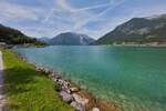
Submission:
{"label": "large purplish-grey boulder touching the grass, left of the pinkish boulders", "polygon": [[63,101],[70,103],[73,101],[72,94],[65,92],[65,91],[60,91],[60,95],[62,97]]}

